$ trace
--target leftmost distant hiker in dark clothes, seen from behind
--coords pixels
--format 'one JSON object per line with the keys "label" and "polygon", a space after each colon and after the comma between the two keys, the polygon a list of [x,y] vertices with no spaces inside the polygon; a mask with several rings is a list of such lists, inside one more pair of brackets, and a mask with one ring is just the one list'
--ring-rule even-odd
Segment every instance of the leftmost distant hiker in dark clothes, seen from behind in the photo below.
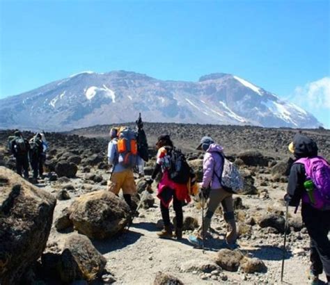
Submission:
{"label": "leftmost distant hiker in dark clothes, seen from behind", "polygon": [[20,131],[15,131],[14,138],[10,142],[10,149],[16,158],[16,172],[22,176],[24,170],[24,178],[29,179],[29,142],[23,138]]}

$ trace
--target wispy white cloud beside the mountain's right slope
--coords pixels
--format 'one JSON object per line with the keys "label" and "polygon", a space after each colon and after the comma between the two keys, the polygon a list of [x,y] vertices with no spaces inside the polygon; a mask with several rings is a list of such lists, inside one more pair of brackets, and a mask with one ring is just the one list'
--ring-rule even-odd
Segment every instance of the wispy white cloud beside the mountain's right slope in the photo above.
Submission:
{"label": "wispy white cloud beside the mountain's right slope", "polygon": [[330,110],[330,76],[298,86],[291,101],[315,111]]}

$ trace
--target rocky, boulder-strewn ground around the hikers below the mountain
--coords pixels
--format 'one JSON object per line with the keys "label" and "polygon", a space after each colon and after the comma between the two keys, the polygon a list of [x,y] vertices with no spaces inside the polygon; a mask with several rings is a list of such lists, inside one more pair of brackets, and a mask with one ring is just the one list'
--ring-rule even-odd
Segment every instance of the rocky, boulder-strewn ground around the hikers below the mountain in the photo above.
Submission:
{"label": "rocky, boulder-strewn ground around the hikers below the mountain", "polygon": [[[15,165],[6,151],[6,140],[13,131],[0,131],[0,165],[6,167],[0,168],[0,278],[6,278],[3,284],[13,284],[13,276],[22,284],[281,283],[287,146],[299,130],[145,124],[151,158],[146,163],[146,175],[155,163],[152,145],[156,137],[170,132],[175,145],[187,154],[198,179],[203,154],[194,148],[203,135],[211,135],[225,147],[228,158],[235,161],[244,177],[244,191],[235,195],[239,250],[226,249],[226,224],[219,209],[203,252],[186,239],[201,223],[198,197],[184,206],[184,239],[162,240],[156,235],[162,220],[155,184],[150,193],[145,181],[138,177],[139,195],[134,202],[138,204],[142,199],[142,207],[127,231],[128,209],[123,198],[106,191],[109,127],[46,133],[50,145],[47,171],[35,186],[7,169]],[[330,158],[330,131],[311,129],[303,133],[313,137],[320,154]],[[26,138],[32,135],[24,132]],[[15,219],[19,222],[14,223]],[[52,227],[47,224],[49,219]],[[8,243],[8,236],[13,246],[3,243]],[[16,247],[15,241],[22,247]],[[33,246],[32,241],[38,246]],[[31,246],[26,247],[26,242]],[[294,214],[290,209],[285,283],[308,283],[308,243],[299,211]],[[23,265],[18,265],[17,259]]]}

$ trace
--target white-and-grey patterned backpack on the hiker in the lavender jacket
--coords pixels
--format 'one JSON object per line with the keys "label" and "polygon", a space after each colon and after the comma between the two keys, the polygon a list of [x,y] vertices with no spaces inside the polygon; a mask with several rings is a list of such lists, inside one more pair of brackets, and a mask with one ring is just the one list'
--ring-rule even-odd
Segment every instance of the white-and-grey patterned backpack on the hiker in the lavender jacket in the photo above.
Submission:
{"label": "white-and-grey patterned backpack on the hiker in the lavender jacket", "polygon": [[228,161],[228,159],[224,157],[223,154],[219,153],[219,155],[223,158],[221,179],[215,171],[214,174],[219,179],[221,185],[223,186],[223,189],[230,193],[237,194],[242,191],[244,187],[244,181],[242,179],[242,176],[239,173],[237,167],[234,165],[234,163]]}

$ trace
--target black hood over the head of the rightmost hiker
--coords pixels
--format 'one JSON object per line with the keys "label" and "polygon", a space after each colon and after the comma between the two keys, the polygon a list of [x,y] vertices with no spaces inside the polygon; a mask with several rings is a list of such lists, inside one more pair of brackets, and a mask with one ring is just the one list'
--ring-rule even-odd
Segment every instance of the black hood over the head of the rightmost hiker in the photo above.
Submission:
{"label": "black hood over the head of the rightmost hiker", "polygon": [[296,158],[317,156],[317,145],[314,140],[300,133],[293,138],[294,156]]}

